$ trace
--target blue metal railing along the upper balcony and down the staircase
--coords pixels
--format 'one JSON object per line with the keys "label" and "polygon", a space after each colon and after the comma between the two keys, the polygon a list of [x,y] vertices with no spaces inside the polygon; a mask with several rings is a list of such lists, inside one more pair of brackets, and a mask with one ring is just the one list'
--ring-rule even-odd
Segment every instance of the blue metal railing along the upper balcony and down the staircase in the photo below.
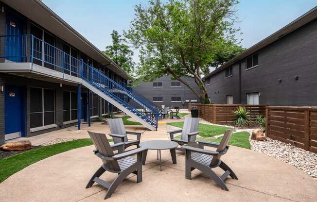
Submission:
{"label": "blue metal railing along the upper balcony and down the staircase", "polygon": [[[30,62],[51,68],[65,74],[80,77],[101,90],[110,98],[142,118],[155,128],[161,116],[156,106],[140,95],[131,92],[127,86],[120,85],[108,78],[102,71],[89,66],[82,60],[36,38],[34,35],[0,36],[0,59],[13,62]],[[0,62],[5,62],[1,61]]]}

